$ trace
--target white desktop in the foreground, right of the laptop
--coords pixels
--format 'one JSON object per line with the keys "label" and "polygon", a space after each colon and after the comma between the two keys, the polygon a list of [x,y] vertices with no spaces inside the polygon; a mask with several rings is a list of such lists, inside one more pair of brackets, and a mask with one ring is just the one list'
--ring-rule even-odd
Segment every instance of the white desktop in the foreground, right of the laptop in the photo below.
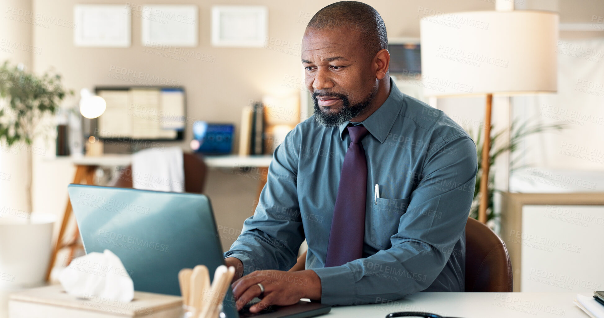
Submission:
{"label": "white desktop in the foreground, right of the laptop", "polygon": [[[590,296],[590,293],[581,293]],[[333,307],[321,317],[384,318],[396,311],[428,311],[460,318],[589,318],[574,305],[577,293],[417,293],[384,304]]]}

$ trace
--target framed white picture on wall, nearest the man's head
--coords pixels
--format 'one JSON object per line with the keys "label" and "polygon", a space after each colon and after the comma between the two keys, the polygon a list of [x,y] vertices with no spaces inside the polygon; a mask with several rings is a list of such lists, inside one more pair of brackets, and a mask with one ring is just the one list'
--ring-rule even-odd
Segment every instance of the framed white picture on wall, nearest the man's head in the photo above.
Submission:
{"label": "framed white picture on wall, nearest the man's head", "polygon": [[268,34],[268,7],[264,5],[214,5],[212,45],[260,48]]}

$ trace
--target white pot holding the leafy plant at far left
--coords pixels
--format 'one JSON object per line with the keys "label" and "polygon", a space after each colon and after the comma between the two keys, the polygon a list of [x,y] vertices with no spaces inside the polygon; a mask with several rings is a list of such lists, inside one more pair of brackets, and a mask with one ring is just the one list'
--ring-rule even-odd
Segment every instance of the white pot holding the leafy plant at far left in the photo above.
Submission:
{"label": "white pot holding the leafy plant at far left", "polygon": [[0,217],[0,289],[44,284],[52,252],[56,216],[34,212],[28,222],[22,212]]}

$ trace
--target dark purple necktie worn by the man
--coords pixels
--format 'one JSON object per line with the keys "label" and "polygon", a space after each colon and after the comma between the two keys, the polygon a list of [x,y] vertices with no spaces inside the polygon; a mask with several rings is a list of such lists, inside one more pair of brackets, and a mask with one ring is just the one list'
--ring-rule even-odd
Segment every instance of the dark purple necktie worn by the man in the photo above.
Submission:
{"label": "dark purple necktie worn by the man", "polygon": [[342,165],[325,267],[341,266],[363,256],[367,159],[361,140],[368,132],[362,125],[347,129],[352,141]]}

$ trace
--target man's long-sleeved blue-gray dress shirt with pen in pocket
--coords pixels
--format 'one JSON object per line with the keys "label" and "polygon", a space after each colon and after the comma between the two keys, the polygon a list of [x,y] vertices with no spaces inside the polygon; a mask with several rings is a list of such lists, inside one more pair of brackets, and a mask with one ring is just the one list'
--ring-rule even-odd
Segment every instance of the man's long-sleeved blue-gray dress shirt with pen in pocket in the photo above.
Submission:
{"label": "man's long-sleeved blue-gray dress shirt with pen in pocket", "polygon": [[[465,226],[474,195],[476,146],[445,113],[403,95],[361,122],[367,156],[363,258],[324,267],[338,183],[350,136],[313,117],[275,149],[254,215],[224,253],[254,270],[289,270],[306,238],[306,269],[321,302],[353,305],[418,291],[463,291]],[[353,123],[356,124],[356,123]],[[379,185],[379,198],[375,185]]]}

